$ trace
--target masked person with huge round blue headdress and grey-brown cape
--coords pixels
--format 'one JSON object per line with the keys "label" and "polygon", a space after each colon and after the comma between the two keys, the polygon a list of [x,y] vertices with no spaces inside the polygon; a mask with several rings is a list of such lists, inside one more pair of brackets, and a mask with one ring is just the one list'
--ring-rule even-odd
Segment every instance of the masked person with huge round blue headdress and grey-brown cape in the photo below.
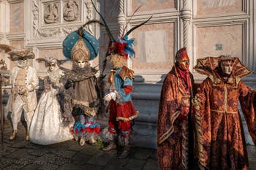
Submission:
{"label": "masked person with huge round blue headdress and grey-brown cape", "polygon": [[97,142],[100,133],[96,123],[98,94],[97,78],[89,61],[97,57],[99,42],[82,27],[69,34],[63,42],[63,53],[72,61],[72,70],[65,72],[65,115],[75,117],[72,133],[80,139],[80,146],[85,142]]}

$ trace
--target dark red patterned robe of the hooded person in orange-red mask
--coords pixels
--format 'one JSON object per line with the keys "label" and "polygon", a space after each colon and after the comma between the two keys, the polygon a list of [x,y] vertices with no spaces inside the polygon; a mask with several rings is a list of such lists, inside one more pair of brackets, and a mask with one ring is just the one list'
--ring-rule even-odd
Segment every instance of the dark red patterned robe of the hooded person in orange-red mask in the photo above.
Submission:
{"label": "dark red patterned robe of the hooded person in orange-red mask", "polygon": [[[193,84],[193,77],[190,80]],[[190,86],[191,87],[191,86]],[[192,153],[191,115],[181,120],[181,97],[188,91],[186,82],[177,76],[176,67],[165,77],[159,103],[157,125],[157,152],[162,170],[188,169],[189,154]],[[192,98],[192,91],[188,92]]]}

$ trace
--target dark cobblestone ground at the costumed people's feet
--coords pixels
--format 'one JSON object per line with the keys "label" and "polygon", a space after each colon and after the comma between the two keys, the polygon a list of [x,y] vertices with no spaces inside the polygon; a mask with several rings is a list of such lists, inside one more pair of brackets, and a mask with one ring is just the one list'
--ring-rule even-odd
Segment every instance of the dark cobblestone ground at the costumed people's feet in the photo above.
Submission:
{"label": "dark cobblestone ground at the costumed people's feet", "polygon": [[[20,123],[21,124],[21,123]],[[116,158],[116,151],[103,152],[100,144],[83,147],[75,140],[42,146],[24,139],[18,126],[14,141],[8,138],[10,124],[5,124],[4,142],[0,145],[0,169],[88,169],[88,170],[158,170],[157,151],[133,147],[129,158]],[[256,147],[248,146],[250,170],[256,170]]]}

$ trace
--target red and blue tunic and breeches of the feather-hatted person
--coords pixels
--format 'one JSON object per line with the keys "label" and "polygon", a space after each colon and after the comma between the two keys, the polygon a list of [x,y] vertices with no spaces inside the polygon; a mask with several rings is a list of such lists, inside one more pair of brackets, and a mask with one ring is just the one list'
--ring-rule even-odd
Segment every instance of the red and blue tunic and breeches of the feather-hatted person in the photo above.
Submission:
{"label": "red and blue tunic and breeches of the feather-hatted person", "polygon": [[118,93],[116,101],[111,99],[108,105],[110,112],[108,131],[111,134],[117,134],[119,131],[123,137],[131,135],[131,120],[138,116],[131,98],[132,79],[133,71],[126,66],[112,70],[110,73],[110,86]]}

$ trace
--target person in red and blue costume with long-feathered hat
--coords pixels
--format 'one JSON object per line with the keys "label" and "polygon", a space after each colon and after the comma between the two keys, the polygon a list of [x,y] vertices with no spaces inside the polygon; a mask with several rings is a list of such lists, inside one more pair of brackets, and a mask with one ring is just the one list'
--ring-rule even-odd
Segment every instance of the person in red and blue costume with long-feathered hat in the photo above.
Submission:
{"label": "person in red and blue costume with long-feathered hat", "polygon": [[[108,53],[106,56],[110,58],[110,63],[113,65],[113,70],[109,75],[110,93],[105,96],[105,100],[109,101],[109,127],[105,128],[102,133],[102,136],[109,139],[110,143],[102,150],[108,151],[116,149],[116,139],[118,137],[118,143],[124,146],[121,154],[118,155],[118,158],[126,158],[130,152],[129,138],[131,136],[132,120],[135,119],[135,117],[138,117],[138,111],[133,106],[131,98],[132,80],[134,77],[133,71],[128,69],[126,66],[127,58],[135,56],[135,51],[132,48],[135,39],[128,39],[128,36],[136,28],[147,23],[152,17],[148,18],[148,20],[143,23],[140,23],[138,26],[134,26],[129,29],[129,31],[124,34],[124,31],[126,31],[127,28],[127,26],[125,26],[121,36],[118,36],[118,39],[115,39],[113,34],[111,34],[105,19],[99,13],[94,3],[92,1],[91,3],[102,19],[104,23],[103,25],[106,27],[106,31],[108,32],[108,36],[110,36],[110,44],[108,45]],[[135,12],[138,11],[138,9],[136,9]],[[127,24],[128,23],[129,22],[127,22]],[[113,47],[112,42],[114,42]]]}

